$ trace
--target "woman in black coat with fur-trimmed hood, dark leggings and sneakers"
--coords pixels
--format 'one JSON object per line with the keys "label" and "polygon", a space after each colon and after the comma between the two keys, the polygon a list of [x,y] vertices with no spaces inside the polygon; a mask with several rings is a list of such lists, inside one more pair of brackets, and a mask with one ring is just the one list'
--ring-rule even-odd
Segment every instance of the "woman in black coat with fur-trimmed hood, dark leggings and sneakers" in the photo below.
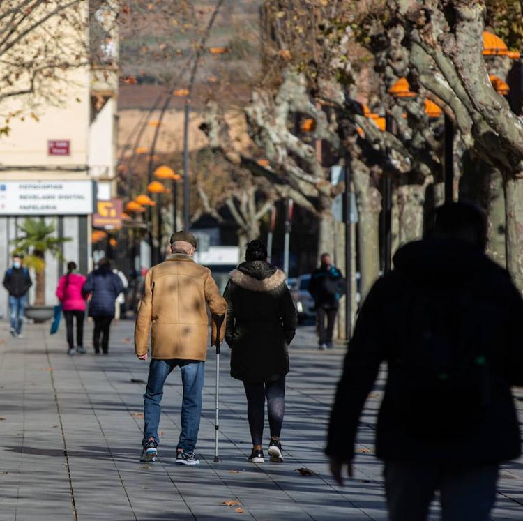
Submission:
{"label": "woman in black coat with fur-trimmed hood, dark leggings and sneakers", "polygon": [[265,400],[272,462],[282,462],[280,431],[285,409],[288,346],[296,332],[296,309],[285,273],[267,262],[261,241],[247,245],[245,262],[231,272],[224,293],[227,301],[225,340],[231,348],[231,376],[243,380],[252,437],[249,461],[264,462],[261,442]]}

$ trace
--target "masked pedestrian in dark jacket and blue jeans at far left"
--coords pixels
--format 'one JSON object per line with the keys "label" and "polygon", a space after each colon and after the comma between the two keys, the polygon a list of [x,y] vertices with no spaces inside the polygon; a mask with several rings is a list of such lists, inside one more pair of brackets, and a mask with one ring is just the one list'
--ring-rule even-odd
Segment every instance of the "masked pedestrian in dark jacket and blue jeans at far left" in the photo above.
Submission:
{"label": "masked pedestrian in dark jacket and blue jeans at far left", "polygon": [[9,293],[10,333],[22,338],[22,319],[26,305],[26,295],[33,285],[29,270],[22,266],[22,257],[13,255],[13,264],[3,277],[3,287]]}

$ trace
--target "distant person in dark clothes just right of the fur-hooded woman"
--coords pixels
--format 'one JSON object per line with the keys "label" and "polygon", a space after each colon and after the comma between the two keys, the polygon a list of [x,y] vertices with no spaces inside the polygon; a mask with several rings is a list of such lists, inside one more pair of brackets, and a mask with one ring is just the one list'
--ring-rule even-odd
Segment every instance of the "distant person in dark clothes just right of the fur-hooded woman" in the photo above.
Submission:
{"label": "distant person in dark clothes just right of the fur-hooded woman", "polygon": [[314,299],[319,333],[318,349],[333,347],[333,331],[340,297],[344,292],[342,272],[333,266],[331,255],[321,255],[321,266],[312,272],[309,293]]}

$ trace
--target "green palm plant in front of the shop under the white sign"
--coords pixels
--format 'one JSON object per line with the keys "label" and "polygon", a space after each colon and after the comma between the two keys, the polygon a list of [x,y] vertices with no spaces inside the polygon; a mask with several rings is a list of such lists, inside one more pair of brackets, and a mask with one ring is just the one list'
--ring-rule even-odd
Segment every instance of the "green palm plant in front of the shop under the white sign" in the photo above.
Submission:
{"label": "green palm plant in front of the shop under the white sign", "polygon": [[45,253],[63,261],[61,245],[70,241],[70,237],[55,237],[54,222],[46,224],[43,219],[26,218],[18,229],[22,235],[13,239],[13,255],[24,256],[24,266],[36,273],[35,305],[45,304]]}

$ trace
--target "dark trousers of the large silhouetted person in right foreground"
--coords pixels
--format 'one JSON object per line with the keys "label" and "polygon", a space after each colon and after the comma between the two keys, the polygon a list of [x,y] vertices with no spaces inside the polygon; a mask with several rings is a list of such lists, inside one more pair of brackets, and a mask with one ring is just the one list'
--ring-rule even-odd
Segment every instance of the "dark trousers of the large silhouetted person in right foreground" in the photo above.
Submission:
{"label": "dark trousers of the large silhouetted person in right foreground", "polygon": [[386,461],[384,476],[391,521],[425,521],[436,490],[441,520],[490,520],[497,465]]}

